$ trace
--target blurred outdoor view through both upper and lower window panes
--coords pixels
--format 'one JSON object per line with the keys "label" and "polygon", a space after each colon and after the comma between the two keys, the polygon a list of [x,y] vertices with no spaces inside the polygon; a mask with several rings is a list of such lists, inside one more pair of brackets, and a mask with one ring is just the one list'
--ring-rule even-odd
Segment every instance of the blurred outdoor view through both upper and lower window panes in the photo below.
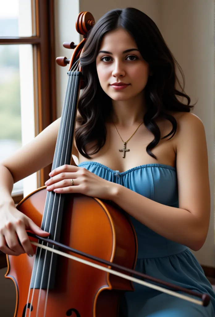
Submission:
{"label": "blurred outdoor view through both upper and lower window panes", "polygon": [[[0,36],[18,36],[17,5],[7,8],[5,3],[0,3]],[[21,146],[19,46],[0,45],[0,161]],[[17,182],[13,192],[22,187]]]}

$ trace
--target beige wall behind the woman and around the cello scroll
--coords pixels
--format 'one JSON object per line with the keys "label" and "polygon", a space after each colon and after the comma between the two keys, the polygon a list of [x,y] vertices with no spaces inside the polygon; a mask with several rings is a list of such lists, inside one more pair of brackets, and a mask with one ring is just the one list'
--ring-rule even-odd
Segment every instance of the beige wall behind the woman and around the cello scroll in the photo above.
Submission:
{"label": "beige wall behind the woman and around the cello scroll", "polygon": [[[117,6],[115,5],[117,3]],[[181,65],[186,79],[186,93],[192,102],[199,100],[194,113],[206,129],[211,186],[211,222],[203,248],[193,252],[203,265],[214,263],[214,40],[213,0],[55,0],[56,57],[71,57],[72,50],[63,48],[63,42],[79,43],[75,30],[78,13],[89,10],[97,21],[114,8],[135,7],[148,14],[157,24],[172,53]],[[58,117],[64,102],[67,68],[56,65]],[[2,317],[13,317],[15,287],[4,278],[6,269],[0,270],[0,311]]]}

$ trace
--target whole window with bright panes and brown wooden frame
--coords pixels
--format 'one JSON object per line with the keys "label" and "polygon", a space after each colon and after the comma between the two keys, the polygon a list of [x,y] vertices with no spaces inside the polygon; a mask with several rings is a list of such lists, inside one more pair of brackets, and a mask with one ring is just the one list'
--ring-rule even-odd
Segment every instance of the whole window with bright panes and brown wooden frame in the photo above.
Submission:
{"label": "whole window with bright panes and brown wooden frame", "polygon": [[[53,6],[0,0],[0,160],[56,120]],[[15,203],[23,188],[25,197],[43,186],[50,171],[51,165],[14,184]]]}

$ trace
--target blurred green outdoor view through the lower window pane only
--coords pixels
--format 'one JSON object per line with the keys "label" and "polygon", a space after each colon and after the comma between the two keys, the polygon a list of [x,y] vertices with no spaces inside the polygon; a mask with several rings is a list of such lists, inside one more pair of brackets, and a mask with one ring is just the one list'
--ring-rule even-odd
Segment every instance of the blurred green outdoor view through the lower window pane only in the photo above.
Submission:
{"label": "blurred green outdoor view through the lower window pane only", "polygon": [[[0,161],[22,145],[18,45],[0,46]],[[22,190],[22,181],[14,191]]]}

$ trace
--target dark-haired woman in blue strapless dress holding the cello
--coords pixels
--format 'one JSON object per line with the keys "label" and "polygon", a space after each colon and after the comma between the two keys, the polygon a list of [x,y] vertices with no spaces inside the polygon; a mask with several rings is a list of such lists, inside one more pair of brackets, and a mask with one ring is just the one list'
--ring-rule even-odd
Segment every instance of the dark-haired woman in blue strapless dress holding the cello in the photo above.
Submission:
{"label": "dark-haired woman in blue strapless dress holding the cello", "polygon": [[[188,249],[202,247],[209,226],[206,137],[177,80],[179,65],[155,23],[133,8],[112,10],[94,25],[80,63],[87,86],[73,146],[79,165],[52,171],[47,191],[114,201],[137,234],[136,270],[211,297],[201,307],[134,284],[120,316],[214,316],[215,294]],[[48,235],[15,209],[11,191],[52,162],[59,120],[2,162],[0,250],[7,254],[33,255],[26,229]]]}

